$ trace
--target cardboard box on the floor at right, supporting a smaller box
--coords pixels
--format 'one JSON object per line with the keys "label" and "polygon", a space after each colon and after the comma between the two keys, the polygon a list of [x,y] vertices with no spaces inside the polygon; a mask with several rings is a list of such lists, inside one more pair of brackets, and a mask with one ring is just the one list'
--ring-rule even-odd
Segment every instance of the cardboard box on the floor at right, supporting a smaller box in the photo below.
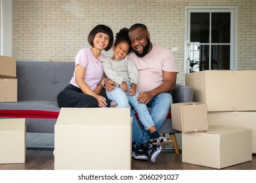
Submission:
{"label": "cardboard box on the floor at right, supporting a smaller box", "polygon": [[184,163],[222,169],[251,159],[251,129],[209,126],[209,131],[182,133]]}

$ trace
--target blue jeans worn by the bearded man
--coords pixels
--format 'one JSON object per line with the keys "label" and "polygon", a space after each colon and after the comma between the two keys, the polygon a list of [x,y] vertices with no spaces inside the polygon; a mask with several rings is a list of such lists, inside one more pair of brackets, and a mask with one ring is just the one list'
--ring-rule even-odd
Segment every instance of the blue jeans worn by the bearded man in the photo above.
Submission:
{"label": "blue jeans worn by the bearded man", "polygon": [[[159,130],[163,122],[165,122],[168,113],[171,110],[171,103],[173,103],[173,97],[170,93],[160,93],[153,97],[153,99],[148,103],[147,107],[150,107],[150,116],[152,117],[156,129]],[[151,135],[148,131],[142,129],[137,121],[137,118],[131,112],[133,117],[133,135],[132,141],[135,142],[137,146],[144,141],[150,140]]]}

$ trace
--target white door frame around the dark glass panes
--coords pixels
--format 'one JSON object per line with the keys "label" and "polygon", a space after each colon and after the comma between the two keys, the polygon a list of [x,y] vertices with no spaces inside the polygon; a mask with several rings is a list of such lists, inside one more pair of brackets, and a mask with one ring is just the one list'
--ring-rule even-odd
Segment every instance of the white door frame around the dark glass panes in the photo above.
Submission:
{"label": "white door frame around the dark glass panes", "polygon": [[237,69],[237,7],[234,6],[186,6],[184,13],[184,73],[190,73],[190,12],[230,12],[230,70]]}

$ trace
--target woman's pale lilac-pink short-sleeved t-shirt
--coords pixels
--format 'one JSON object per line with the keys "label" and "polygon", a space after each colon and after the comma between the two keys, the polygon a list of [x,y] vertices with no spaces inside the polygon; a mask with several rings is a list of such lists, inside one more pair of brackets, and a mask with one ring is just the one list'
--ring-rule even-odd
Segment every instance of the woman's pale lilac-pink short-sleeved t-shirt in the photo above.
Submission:
{"label": "woman's pale lilac-pink short-sleeved t-shirt", "polygon": [[[100,59],[104,58],[106,58],[106,56],[101,54]],[[75,56],[75,65],[77,64],[86,68],[84,77],[85,83],[94,91],[104,74],[101,61],[93,56],[91,48],[82,48]],[[74,76],[70,80],[70,84],[79,88],[75,83],[75,71]]]}

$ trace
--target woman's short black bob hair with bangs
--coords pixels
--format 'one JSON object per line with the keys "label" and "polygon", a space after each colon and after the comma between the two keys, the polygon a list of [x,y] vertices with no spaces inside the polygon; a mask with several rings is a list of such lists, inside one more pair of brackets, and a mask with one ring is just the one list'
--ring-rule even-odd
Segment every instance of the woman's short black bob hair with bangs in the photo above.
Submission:
{"label": "woman's short black bob hair with bangs", "polygon": [[108,46],[104,49],[106,51],[110,50],[110,48],[112,48],[112,45],[114,42],[114,35],[113,35],[112,29],[110,29],[110,27],[108,27],[106,25],[102,25],[102,24],[96,25],[89,33],[88,39],[87,39],[89,44],[93,47],[94,47],[93,39],[95,39],[96,33],[104,33],[110,37],[110,42],[108,43]]}

